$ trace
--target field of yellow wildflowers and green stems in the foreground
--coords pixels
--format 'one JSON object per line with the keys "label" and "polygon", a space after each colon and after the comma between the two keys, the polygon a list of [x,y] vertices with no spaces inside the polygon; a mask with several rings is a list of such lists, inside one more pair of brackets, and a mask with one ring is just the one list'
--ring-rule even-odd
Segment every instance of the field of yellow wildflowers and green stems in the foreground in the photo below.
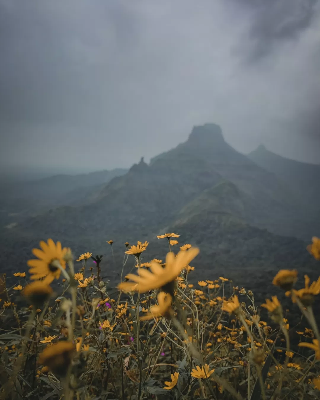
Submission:
{"label": "field of yellow wildflowers and green stems in the foreground", "polygon": [[[258,307],[228,277],[189,283],[200,250],[173,251],[178,237],[158,236],[168,253],[150,262],[148,242],[126,242],[116,287],[101,255],[74,257],[51,239],[32,250],[29,274],[3,275],[0,400],[319,398],[320,277],[305,275],[304,288],[296,270],[273,278],[301,314],[297,330],[277,296]],[[320,239],[308,251],[320,260]]]}

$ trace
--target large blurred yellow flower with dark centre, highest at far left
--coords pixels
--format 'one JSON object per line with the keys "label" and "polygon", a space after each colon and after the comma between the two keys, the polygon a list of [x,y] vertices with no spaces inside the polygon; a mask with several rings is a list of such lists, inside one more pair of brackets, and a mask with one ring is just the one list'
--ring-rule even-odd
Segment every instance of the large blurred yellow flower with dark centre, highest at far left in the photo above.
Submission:
{"label": "large blurred yellow flower with dark centre, highest at far left", "polygon": [[55,278],[60,277],[61,270],[56,266],[57,263],[66,269],[66,261],[64,256],[68,252],[66,247],[62,248],[61,243],[54,243],[52,239],[48,239],[48,244],[41,240],[40,249],[32,249],[32,253],[38,257],[38,260],[28,260],[28,266],[30,266],[30,279],[40,279],[44,276],[46,283],[51,283]]}

